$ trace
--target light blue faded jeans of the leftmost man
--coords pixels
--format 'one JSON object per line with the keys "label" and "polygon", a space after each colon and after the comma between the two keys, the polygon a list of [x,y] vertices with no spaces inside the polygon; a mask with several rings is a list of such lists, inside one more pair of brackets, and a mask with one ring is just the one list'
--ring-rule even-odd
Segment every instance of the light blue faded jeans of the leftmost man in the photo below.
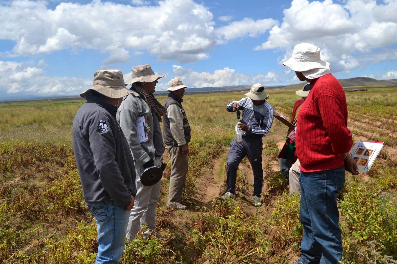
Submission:
{"label": "light blue faded jeans of the leftmost man", "polygon": [[98,230],[98,254],[95,263],[119,263],[125,247],[130,211],[125,211],[125,207],[117,203],[86,205],[95,217]]}

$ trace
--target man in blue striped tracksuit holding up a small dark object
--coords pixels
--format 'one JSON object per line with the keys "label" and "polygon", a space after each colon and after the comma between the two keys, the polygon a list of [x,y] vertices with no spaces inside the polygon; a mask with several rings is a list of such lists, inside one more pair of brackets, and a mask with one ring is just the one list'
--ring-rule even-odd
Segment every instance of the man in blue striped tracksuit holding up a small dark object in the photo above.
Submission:
{"label": "man in blue striped tracksuit holding up a small dark object", "polygon": [[262,137],[270,131],[274,109],[266,101],[269,96],[264,91],[262,84],[252,85],[250,92],[245,95],[247,96],[246,98],[242,98],[240,101],[233,101],[226,107],[229,112],[235,112],[239,109],[243,110],[243,117],[241,123],[238,124],[238,128],[245,132],[241,143],[237,141],[237,138],[230,143],[226,168],[227,188],[221,198],[235,197],[237,169],[243,158],[247,156],[254,172],[253,205],[260,207],[262,205],[260,196],[263,186]]}

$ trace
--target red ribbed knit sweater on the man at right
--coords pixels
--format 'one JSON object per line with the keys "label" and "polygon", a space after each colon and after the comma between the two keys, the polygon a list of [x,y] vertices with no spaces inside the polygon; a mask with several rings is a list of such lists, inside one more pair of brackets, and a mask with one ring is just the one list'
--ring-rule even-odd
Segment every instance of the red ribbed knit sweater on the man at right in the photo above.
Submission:
{"label": "red ribbed knit sweater on the man at right", "polygon": [[301,170],[313,172],[343,166],[341,153],[353,142],[347,128],[347,103],[339,81],[331,74],[310,82],[312,89],[298,115],[296,149]]}

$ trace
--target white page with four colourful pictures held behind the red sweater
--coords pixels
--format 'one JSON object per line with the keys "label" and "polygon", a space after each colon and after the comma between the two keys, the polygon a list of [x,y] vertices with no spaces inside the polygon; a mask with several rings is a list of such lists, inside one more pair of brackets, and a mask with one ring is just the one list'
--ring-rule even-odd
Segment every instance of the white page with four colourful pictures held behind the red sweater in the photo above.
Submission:
{"label": "white page with four colourful pictures held behind the red sweater", "polygon": [[360,172],[368,172],[374,163],[383,142],[362,142],[358,141],[350,151],[350,156],[356,161]]}

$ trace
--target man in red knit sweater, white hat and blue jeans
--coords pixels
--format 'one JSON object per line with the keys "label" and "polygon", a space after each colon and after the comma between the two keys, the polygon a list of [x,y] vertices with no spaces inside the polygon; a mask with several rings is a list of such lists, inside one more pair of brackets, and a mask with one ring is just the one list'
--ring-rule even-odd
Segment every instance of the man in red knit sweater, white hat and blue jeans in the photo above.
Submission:
{"label": "man in red knit sweater, white hat and blue jeans", "polygon": [[345,184],[345,170],[358,174],[348,155],[353,142],[345,92],[331,75],[330,63],[321,60],[317,46],[296,45],[283,65],[312,85],[297,121],[303,237],[301,258],[294,264],[337,264],[343,252],[337,193]]}

